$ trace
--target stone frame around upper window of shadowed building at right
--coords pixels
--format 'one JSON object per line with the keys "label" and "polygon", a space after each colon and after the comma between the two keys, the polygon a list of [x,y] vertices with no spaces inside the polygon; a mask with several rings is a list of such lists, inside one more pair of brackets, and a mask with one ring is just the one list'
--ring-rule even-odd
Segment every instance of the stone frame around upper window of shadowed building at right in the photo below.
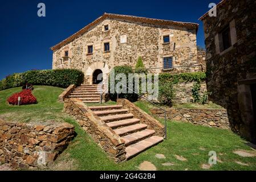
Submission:
{"label": "stone frame around upper window of shadowed building at right", "polygon": [[222,42],[222,32],[224,31],[225,28],[223,28],[221,31],[219,31],[215,37],[214,37],[214,43],[216,47],[216,54],[217,55],[224,55],[225,53],[229,52],[234,48],[234,44],[237,43],[237,31],[235,29],[235,20],[231,20],[228,24],[226,24],[223,27],[229,27],[230,31],[230,42],[231,46],[227,49],[224,50],[223,48],[223,42]]}

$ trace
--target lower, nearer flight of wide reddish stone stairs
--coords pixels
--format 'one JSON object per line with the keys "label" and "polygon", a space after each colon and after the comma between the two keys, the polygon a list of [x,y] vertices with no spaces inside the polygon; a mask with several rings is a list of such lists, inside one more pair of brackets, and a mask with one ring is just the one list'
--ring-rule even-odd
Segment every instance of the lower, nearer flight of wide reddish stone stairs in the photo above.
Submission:
{"label": "lower, nearer flight of wide reddish stone stairs", "polygon": [[[82,89],[84,90],[85,87]],[[78,91],[76,90],[75,93]],[[163,137],[156,136],[154,130],[147,129],[148,125],[140,123],[140,119],[135,118],[128,109],[123,109],[121,105],[91,106],[88,108],[124,140],[127,160],[164,140]]]}

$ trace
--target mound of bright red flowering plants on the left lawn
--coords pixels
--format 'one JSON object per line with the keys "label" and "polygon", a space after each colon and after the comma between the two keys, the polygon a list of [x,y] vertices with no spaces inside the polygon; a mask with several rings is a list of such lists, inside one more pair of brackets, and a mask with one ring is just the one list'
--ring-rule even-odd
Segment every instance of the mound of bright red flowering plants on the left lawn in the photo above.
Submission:
{"label": "mound of bright red flowering plants on the left lawn", "polygon": [[37,102],[30,89],[13,94],[7,101],[9,104],[18,105],[18,97],[21,97],[21,105],[36,104]]}

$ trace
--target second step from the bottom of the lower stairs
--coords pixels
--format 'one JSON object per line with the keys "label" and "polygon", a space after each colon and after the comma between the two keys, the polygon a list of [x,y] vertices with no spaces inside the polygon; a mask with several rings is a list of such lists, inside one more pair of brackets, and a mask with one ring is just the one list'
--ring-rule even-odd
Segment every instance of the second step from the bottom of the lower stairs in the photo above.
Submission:
{"label": "second step from the bottom of the lower stairs", "polygon": [[156,132],[154,130],[142,130],[136,133],[133,133],[131,135],[126,135],[122,137],[125,141],[125,146],[129,146],[132,143],[135,143],[141,139],[148,138],[149,136],[155,134]]}

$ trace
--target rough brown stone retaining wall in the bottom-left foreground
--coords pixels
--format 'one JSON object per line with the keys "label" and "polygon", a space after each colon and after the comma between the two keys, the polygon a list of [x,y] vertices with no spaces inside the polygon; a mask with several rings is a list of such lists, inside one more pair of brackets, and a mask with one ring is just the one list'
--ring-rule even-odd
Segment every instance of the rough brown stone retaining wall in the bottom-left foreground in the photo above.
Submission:
{"label": "rough brown stone retaining wall in the bottom-left foreground", "polygon": [[0,121],[0,163],[14,169],[46,167],[74,137],[74,126],[29,125]]}

